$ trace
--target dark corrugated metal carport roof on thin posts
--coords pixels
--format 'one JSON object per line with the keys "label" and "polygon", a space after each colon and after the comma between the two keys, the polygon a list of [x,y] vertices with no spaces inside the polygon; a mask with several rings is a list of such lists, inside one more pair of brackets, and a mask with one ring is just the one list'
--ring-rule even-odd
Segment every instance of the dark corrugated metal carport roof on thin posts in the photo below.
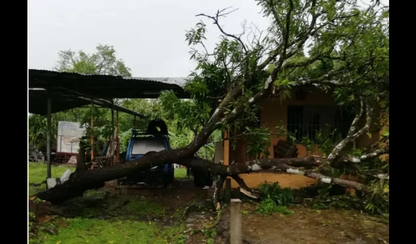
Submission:
{"label": "dark corrugated metal carport roof on thin posts", "polygon": [[[113,104],[107,100],[157,98],[163,90],[172,90],[178,98],[189,98],[183,88],[185,83],[185,78],[126,78],[29,69],[29,113],[46,115],[48,96],[52,99],[52,113],[92,102],[111,108]],[[114,108],[143,116],[121,106],[114,105]]]}

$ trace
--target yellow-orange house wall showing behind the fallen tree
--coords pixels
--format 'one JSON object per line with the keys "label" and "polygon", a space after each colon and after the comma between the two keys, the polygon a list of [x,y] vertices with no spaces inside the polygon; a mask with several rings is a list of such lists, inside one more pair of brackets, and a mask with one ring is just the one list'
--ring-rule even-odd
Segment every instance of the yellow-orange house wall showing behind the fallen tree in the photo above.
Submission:
{"label": "yellow-orange house wall showing behind the fallen tree", "polygon": [[[284,127],[287,128],[287,106],[288,105],[335,105],[335,102],[330,93],[324,93],[317,88],[302,88],[307,92],[306,99],[303,101],[297,101],[295,93],[299,90],[295,89],[291,98],[280,101],[279,99],[267,99],[260,103],[262,107],[260,115],[260,124],[270,128],[270,132],[277,134],[277,126],[283,123]],[[269,147],[270,156],[274,158],[273,145],[276,145],[278,140],[285,139],[285,137],[272,136],[271,146]],[[357,147],[364,147],[369,143],[375,142],[379,139],[379,131],[372,133],[371,138],[368,135],[363,135],[357,140]],[[307,155],[307,150],[304,146],[297,144],[298,157],[304,157]],[[236,142],[235,149],[230,146],[230,162],[246,162],[250,160],[247,156],[247,146],[244,140]],[[313,152],[313,155],[320,155],[319,151]],[[278,182],[282,187],[290,187],[297,189],[300,187],[308,186],[317,181],[303,175],[292,175],[283,172],[257,172],[251,174],[242,174],[240,177],[245,183],[252,188],[257,188],[260,183],[267,182]],[[238,187],[238,183],[231,180],[231,187]]]}

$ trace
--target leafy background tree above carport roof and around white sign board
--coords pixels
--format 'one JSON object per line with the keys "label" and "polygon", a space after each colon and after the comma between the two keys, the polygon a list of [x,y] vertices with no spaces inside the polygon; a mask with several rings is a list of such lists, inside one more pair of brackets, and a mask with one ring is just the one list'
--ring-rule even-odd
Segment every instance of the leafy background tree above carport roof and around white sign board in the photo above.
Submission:
{"label": "leafy background tree above carport roof and around white sign board", "polygon": [[[83,51],[73,52],[70,49],[60,51],[57,65],[54,68],[59,72],[74,72],[93,75],[114,75],[131,77],[131,69],[124,61],[116,58],[113,46],[96,46],[96,53],[87,54]],[[104,138],[111,135],[111,113],[100,108],[73,108],[52,115],[51,135],[52,147],[55,147],[58,121],[80,122],[87,125],[87,136],[91,134],[89,123],[94,116],[94,135],[96,146],[103,143]],[[30,115],[29,121],[29,144],[36,145],[40,150],[46,151],[46,118],[39,115]],[[109,127],[110,126],[110,127]],[[89,143],[87,143],[89,144]],[[90,149],[90,148],[89,148]]]}

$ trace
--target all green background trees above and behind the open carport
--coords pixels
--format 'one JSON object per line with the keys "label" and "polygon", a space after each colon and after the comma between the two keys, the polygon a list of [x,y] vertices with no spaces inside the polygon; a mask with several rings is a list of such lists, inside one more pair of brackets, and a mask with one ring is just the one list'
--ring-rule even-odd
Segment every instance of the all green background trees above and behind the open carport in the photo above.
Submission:
{"label": "all green background trees above and behind the open carport", "polygon": [[[74,52],[69,50],[60,51],[55,70],[59,72],[75,72],[81,74],[93,75],[113,75],[131,77],[131,69],[127,67],[121,59],[116,58],[116,51],[111,45],[98,45],[96,52],[87,54],[84,51]],[[180,117],[173,116],[172,113],[166,112],[167,108],[162,108],[160,102],[156,99],[121,99],[114,100],[117,105],[126,107],[138,113],[146,115],[146,118],[136,118],[136,128],[145,130],[147,124],[153,119],[163,119],[167,122],[169,131],[171,132],[171,143],[173,148],[184,146],[189,143],[193,136],[189,130],[190,124],[186,122],[178,122]],[[91,117],[94,118],[94,129],[90,127]],[[169,117],[170,116],[170,117]],[[186,119],[185,119],[186,120]],[[42,151],[46,151],[46,118],[39,115],[30,115],[29,121],[29,144],[36,146]],[[86,152],[90,155],[89,138],[91,133],[94,135],[94,151],[100,152],[101,146],[109,139],[112,134],[112,118],[111,111],[95,106],[93,109],[73,108],[67,111],[52,114],[52,147],[55,147],[57,136],[58,121],[80,122],[87,127],[88,138]],[[184,126],[180,126],[184,124]],[[119,113],[119,140],[120,152],[127,150],[128,139],[130,138],[131,129],[134,127],[134,116]],[[218,136],[217,136],[217,139]],[[207,159],[213,157],[213,146],[204,146],[199,154]]]}

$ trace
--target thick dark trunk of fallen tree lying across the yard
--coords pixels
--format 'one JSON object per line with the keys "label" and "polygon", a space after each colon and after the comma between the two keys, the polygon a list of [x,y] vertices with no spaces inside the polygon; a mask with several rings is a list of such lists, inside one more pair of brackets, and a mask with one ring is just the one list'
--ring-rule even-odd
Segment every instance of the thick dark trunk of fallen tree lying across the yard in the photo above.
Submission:
{"label": "thick dark trunk of fallen tree lying across the yard", "polygon": [[[173,149],[145,155],[132,163],[123,163],[94,170],[76,170],[71,174],[67,182],[46,191],[39,192],[36,196],[51,203],[62,203],[70,198],[82,196],[86,190],[103,187],[104,183],[107,181],[120,179],[154,166],[160,166],[163,163],[178,163],[186,167],[208,170],[221,176],[222,182],[227,176],[231,176],[241,186],[241,192],[252,198],[257,198],[255,192],[253,192],[238,175],[264,169],[274,169],[290,174],[301,174],[309,178],[318,179],[323,183],[353,187],[360,191],[367,190],[367,187],[361,183],[327,177],[313,171],[302,171],[294,166],[291,166],[296,165],[298,167],[310,167],[324,162],[313,157],[263,159],[260,161],[235,163],[233,165],[221,165],[211,163],[205,159],[194,158],[192,157],[194,153],[195,150],[191,148]],[[214,195],[214,201],[217,201],[219,196],[218,193],[219,186],[217,185],[217,192]]]}

